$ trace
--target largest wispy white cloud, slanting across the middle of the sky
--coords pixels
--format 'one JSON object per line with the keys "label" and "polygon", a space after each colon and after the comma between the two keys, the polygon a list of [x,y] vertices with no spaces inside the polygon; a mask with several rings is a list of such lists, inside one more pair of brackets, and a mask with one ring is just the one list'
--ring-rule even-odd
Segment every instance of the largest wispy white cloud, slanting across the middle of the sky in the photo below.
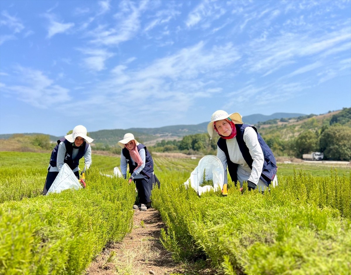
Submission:
{"label": "largest wispy white cloud, slanting across the middle of the sky", "polygon": [[[133,100],[151,104],[135,109],[136,117],[157,119],[170,112],[187,112],[197,100],[223,91],[220,80],[217,82],[212,76],[215,73],[225,74],[227,66],[240,59],[231,43],[210,48],[205,46],[204,42],[200,42],[183,48],[154,60],[144,68],[129,68],[128,62],[115,66],[109,79],[99,82],[87,93],[82,104],[92,106],[96,116],[106,113],[111,118],[124,116],[125,108],[116,106],[129,106]],[[96,90],[99,90],[98,95],[94,92]],[[103,109],[94,108],[101,105]]]}

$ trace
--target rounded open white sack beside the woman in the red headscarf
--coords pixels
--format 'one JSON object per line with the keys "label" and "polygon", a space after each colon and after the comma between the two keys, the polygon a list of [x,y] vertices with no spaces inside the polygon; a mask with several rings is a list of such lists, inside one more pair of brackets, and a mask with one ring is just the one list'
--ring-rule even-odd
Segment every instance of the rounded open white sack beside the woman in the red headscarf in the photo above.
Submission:
{"label": "rounded open white sack beside the woman in the red headscarf", "polygon": [[[200,186],[203,181],[205,170],[205,180],[212,180],[213,187],[211,185]],[[218,187],[220,190],[223,189],[224,184],[224,169],[221,161],[217,156],[208,155],[200,159],[198,166],[191,172],[189,179],[184,182],[185,186],[191,187],[199,194],[208,190],[216,190]]]}

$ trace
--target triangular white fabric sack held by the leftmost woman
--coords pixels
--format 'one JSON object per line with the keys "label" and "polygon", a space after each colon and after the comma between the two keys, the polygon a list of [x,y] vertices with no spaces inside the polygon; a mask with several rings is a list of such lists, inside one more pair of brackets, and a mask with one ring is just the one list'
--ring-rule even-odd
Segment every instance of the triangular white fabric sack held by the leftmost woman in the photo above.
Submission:
{"label": "triangular white fabric sack held by the leftmost woman", "polygon": [[78,179],[72,172],[72,169],[69,168],[67,163],[64,163],[59,174],[52,183],[46,195],[48,195],[49,193],[60,193],[61,191],[70,188],[78,190],[83,187],[78,182]]}

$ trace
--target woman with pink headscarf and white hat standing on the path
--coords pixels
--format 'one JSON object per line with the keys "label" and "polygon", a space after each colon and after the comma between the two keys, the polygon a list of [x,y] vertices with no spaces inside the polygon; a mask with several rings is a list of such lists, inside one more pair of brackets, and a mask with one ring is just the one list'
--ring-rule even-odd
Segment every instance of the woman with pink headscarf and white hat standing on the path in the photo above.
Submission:
{"label": "woman with pink headscarf and white hat standing on the path", "polygon": [[133,180],[138,190],[139,205],[134,204],[133,208],[146,211],[147,208],[151,207],[150,196],[153,184],[157,183],[160,187],[160,182],[154,175],[151,154],[146,146],[139,143],[131,133],[125,134],[118,145],[122,148],[121,173],[126,179],[127,165],[129,165],[129,172],[131,173],[129,182]]}

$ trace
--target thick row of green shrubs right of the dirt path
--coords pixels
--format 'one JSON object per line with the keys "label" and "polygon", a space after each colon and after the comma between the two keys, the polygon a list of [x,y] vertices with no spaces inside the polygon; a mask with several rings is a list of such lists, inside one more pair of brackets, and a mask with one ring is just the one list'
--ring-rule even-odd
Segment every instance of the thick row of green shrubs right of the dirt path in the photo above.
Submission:
{"label": "thick row of green shrubs right of the dirt path", "polygon": [[244,185],[199,197],[163,183],[152,201],[176,260],[207,257],[226,274],[350,274],[350,192],[350,177],[300,172],[264,194]]}

